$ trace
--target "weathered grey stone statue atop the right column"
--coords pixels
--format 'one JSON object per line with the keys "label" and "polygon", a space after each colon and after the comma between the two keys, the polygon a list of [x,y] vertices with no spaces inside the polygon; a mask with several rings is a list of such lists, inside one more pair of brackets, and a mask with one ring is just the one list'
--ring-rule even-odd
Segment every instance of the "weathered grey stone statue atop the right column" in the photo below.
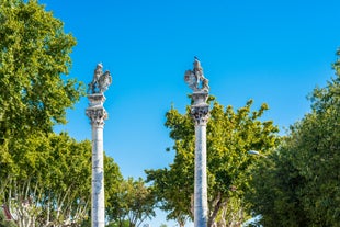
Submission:
{"label": "weathered grey stone statue atop the right column", "polygon": [[184,80],[188,86],[195,91],[209,91],[208,80],[203,75],[203,68],[197,57],[194,57],[193,70],[186,70]]}

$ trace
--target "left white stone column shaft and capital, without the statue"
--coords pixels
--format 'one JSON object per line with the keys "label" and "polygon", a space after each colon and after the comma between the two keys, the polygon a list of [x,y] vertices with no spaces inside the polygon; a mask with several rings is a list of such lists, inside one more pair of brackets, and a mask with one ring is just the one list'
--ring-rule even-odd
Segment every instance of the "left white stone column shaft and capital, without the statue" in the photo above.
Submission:
{"label": "left white stone column shaft and capital, without the statue", "polygon": [[103,107],[105,97],[103,93],[88,94],[90,101],[86,111],[92,126],[92,227],[105,226],[105,197],[104,197],[104,155],[103,128],[107,113]]}

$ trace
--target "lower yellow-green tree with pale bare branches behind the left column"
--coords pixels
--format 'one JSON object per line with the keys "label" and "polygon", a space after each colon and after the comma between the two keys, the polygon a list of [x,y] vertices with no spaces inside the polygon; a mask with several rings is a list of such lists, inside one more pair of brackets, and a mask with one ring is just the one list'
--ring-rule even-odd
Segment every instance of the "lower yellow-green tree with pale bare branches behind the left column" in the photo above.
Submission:
{"label": "lower yellow-green tree with pale bare branches behind the left column", "polygon": [[[66,133],[50,133],[48,137],[20,139],[16,145],[16,174],[1,179],[0,204],[11,208],[18,225],[80,226],[90,220],[91,143],[76,141]],[[110,201],[116,192],[112,189],[123,178],[118,166],[107,156],[104,174]]]}

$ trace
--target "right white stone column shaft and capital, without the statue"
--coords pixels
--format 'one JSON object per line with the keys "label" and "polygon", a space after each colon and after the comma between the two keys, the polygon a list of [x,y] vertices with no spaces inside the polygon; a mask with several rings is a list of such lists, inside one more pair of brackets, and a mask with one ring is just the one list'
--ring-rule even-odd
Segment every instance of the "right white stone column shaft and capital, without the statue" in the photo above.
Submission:
{"label": "right white stone column shaft and capital, without the statue", "polygon": [[195,122],[195,180],[194,180],[194,226],[207,226],[207,177],[206,177],[206,123],[208,121],[208,93],[194,92],[191,115]]}

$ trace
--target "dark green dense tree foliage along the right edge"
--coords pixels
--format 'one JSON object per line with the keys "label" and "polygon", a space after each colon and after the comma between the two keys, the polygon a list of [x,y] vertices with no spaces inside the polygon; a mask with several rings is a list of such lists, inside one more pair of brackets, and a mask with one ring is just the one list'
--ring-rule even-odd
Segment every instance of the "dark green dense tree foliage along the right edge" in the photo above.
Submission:
{"label": "dark green dense tree foliage along the right edge", "polygon": [[[338,53],[339,54],[339,53]],[[340,61],[310,95],[311,113],[254,171],[251,211],[263,226],[339,226]]]}

